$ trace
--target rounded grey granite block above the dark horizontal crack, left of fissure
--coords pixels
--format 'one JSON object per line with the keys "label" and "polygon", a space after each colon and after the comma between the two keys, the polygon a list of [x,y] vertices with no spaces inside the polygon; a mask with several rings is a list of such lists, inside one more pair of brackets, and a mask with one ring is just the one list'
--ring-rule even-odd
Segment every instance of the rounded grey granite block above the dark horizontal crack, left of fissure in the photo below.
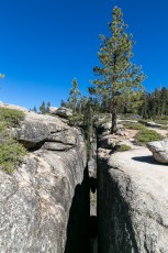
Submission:
{"label": "rounded grey granite block above the dark horizontal crack, left of fissure", "polygon": [[58,117],[30,112],[15,130],[15,138],[27,148],[38,147],[45,142],[76,145],[78,132]]}

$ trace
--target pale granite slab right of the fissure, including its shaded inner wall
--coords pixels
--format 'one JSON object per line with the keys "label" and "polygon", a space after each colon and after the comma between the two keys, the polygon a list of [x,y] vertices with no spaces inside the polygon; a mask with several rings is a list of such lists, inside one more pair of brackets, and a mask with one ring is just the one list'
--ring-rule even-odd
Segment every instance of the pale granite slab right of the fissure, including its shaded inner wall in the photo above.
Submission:
{"label": "pale granite slab right of the fissure, including its shaded inner wall", "polygon": [[99,251],[168,252],[168,166],[146,147],[98,161]]}

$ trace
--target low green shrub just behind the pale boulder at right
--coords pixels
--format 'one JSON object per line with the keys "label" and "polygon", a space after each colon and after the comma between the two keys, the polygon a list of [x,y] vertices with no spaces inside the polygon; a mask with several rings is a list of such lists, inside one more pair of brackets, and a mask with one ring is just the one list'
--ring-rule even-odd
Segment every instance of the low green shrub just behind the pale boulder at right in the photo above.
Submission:
{"label": "low green shrub just behind the pale boulder at right", "polygon": [[138,144],[146,144],[147,142],[160,141],[164,136],[155,130],[141,130],[135,135],[135,141]]}

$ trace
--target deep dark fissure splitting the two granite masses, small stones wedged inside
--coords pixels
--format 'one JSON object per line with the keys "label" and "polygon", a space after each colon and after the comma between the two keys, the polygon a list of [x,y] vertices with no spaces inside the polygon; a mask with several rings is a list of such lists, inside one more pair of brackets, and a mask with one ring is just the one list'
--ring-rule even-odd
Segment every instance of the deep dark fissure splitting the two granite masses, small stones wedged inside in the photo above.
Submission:
{"label": "deep dark fissure splitting the two granite masses, small stones wedged inside", "polygon": [[94,166],[85,169],[83,182],[77,185],[67,227],[67,241],[64,253],[97,253],[97,145],[93,145]]}

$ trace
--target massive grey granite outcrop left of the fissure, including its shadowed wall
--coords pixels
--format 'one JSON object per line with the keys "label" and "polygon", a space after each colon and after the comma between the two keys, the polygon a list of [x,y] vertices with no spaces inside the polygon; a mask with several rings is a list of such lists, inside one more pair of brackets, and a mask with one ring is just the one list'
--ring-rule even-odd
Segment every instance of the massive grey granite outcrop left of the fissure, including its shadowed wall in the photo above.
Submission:
{"label": "massive grey granite outcrop left of the fissure, including its shadowed wall", "polygon": [[15,135],[35,151],[12,175],[0,169],[0,252],[88,252],[82,132],[59,118],[27,112]]}

